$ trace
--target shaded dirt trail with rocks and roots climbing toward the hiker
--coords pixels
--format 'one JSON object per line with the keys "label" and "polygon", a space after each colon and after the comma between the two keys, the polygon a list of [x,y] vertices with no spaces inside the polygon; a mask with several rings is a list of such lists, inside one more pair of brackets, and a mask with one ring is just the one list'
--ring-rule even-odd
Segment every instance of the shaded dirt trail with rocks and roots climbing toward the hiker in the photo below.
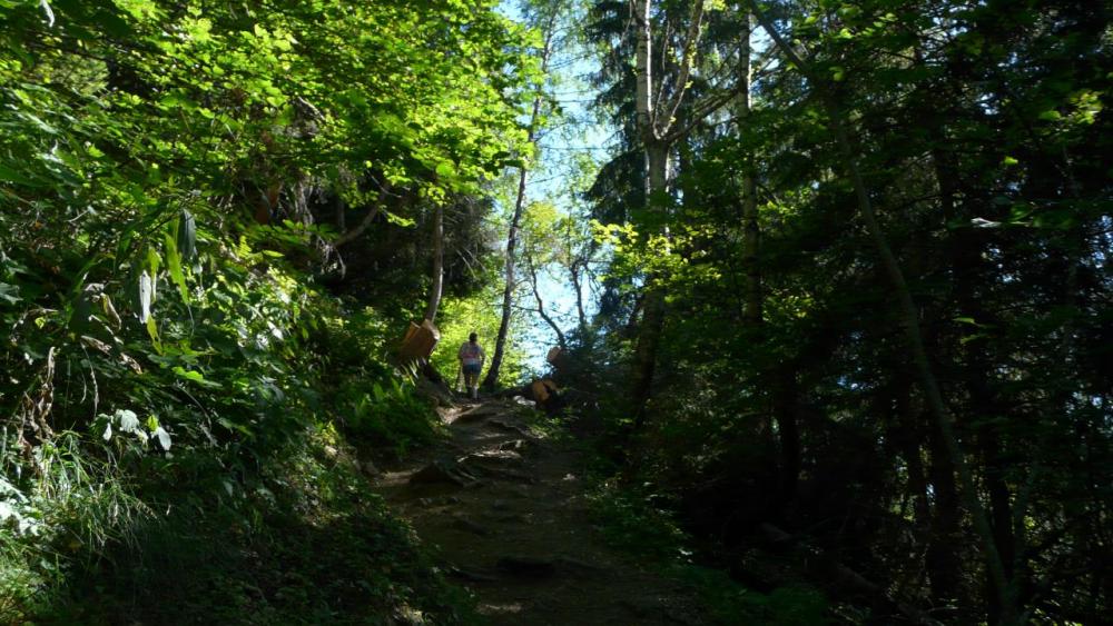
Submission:
{"label": "shaded dirt trail with rocks and roots climbing toward the hiker", "polygon": [[440,409],[451,438],[377,489],[490,624],[705,624],[690,589],[609,548],[581,455],[514,400]]}

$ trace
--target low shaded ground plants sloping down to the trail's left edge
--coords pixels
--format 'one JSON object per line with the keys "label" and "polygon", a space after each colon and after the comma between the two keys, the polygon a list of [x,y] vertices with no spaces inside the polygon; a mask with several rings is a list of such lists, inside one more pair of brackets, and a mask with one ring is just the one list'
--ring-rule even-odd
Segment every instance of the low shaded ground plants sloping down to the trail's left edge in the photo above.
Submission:
{"label": "low shaded ground plants sloping down to the trail's left edge", "polygon": [[359,474],[335,430],[280,460],[169,507],[71,576],[48,623],[454,624],[470,598],[447,585]]}

